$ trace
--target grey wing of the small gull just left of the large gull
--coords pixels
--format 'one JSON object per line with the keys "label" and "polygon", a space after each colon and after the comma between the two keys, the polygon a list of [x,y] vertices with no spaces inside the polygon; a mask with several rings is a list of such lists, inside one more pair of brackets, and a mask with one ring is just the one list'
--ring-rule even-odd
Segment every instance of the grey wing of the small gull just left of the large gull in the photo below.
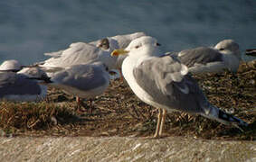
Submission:
{"label": "grey wing of the small gull just left of the large gull", "polygon": [[[100,67],[77,65],[55,74],[52,76],[52,81],[87,91],[98,88],[109,82],[109,80],[104,77],[104,73],[105,71]],[[106,72],[106,74],[108,73]]]}

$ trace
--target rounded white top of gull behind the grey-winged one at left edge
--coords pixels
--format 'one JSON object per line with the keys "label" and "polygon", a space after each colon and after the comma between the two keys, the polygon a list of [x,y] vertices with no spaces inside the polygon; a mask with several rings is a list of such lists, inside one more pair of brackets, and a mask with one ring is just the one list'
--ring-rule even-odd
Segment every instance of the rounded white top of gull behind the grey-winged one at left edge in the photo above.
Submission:
{"label": "rounded white top of gull behind the grey-winged one at left edge", "polygon": [[17,72],[22,69],[22,65],[19,63],[19,61],[15,59],[8,59],[5,60],[1,65],[0,65],[0,71],[13,71]]}

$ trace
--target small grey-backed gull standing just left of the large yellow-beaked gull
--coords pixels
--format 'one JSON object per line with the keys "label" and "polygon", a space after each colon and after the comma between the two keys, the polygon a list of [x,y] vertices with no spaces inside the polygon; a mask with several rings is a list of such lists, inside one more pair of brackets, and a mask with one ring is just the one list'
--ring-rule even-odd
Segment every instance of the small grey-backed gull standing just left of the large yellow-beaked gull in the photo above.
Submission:
{"label": "small grey-backed gull standing just left of the large yellow-beaked gull", "polygon": [[[46,85],[62,89],[67,94],[92,99],[109,86],[108,68],[101,62],[67,67],[45,81]],[[78,106],[81,101],[77,98]]]}

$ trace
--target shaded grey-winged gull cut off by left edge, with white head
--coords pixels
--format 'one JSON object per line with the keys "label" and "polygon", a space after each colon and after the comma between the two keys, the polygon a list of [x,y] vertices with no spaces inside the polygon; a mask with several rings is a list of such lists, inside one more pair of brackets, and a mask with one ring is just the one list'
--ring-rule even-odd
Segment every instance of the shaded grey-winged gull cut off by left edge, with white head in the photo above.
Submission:
{"label": "shaded grey-winged gull cut off by left edge, with white head", "polygon": [[33,78],[46,74],[36,67],[25,67],[21,71],[0,73],[0,98],[10,101],[32,102],[46,97],[47,86],[40,85]]}

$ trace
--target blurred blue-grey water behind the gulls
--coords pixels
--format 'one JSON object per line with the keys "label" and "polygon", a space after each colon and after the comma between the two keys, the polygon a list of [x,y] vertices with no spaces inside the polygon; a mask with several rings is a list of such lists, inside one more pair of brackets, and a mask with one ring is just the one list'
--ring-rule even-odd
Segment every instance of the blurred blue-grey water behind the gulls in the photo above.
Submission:
{"label": "blurred blue-grey water behind the gulls", "polygon": [[[164,51],[234,39],[256,48],[255,0],[5,0],[0,2],[0,63],[24,65],[74,41],[144,31]],[[246,58],[251,59],[251,58]]]}

